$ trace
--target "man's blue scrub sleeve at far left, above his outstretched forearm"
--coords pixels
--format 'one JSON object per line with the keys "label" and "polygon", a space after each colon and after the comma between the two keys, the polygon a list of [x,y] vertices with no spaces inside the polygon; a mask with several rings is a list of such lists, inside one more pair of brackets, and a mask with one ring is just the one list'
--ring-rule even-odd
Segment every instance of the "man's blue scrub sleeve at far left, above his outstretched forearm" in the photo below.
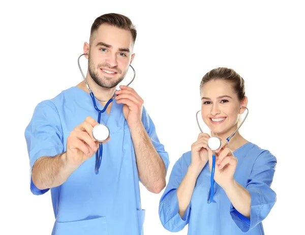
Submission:
{"label": "man's blue scrub sleeve at far left, above his outstretched forearm", "polygon": [[58,111],[51,101],[39,103],[24,132],[30,165],[31,192],[35,195],[46,193],[49,189],[38,189],[32,180],[34,163],[40,157],[54,157],[64,152],[63,132]]}

